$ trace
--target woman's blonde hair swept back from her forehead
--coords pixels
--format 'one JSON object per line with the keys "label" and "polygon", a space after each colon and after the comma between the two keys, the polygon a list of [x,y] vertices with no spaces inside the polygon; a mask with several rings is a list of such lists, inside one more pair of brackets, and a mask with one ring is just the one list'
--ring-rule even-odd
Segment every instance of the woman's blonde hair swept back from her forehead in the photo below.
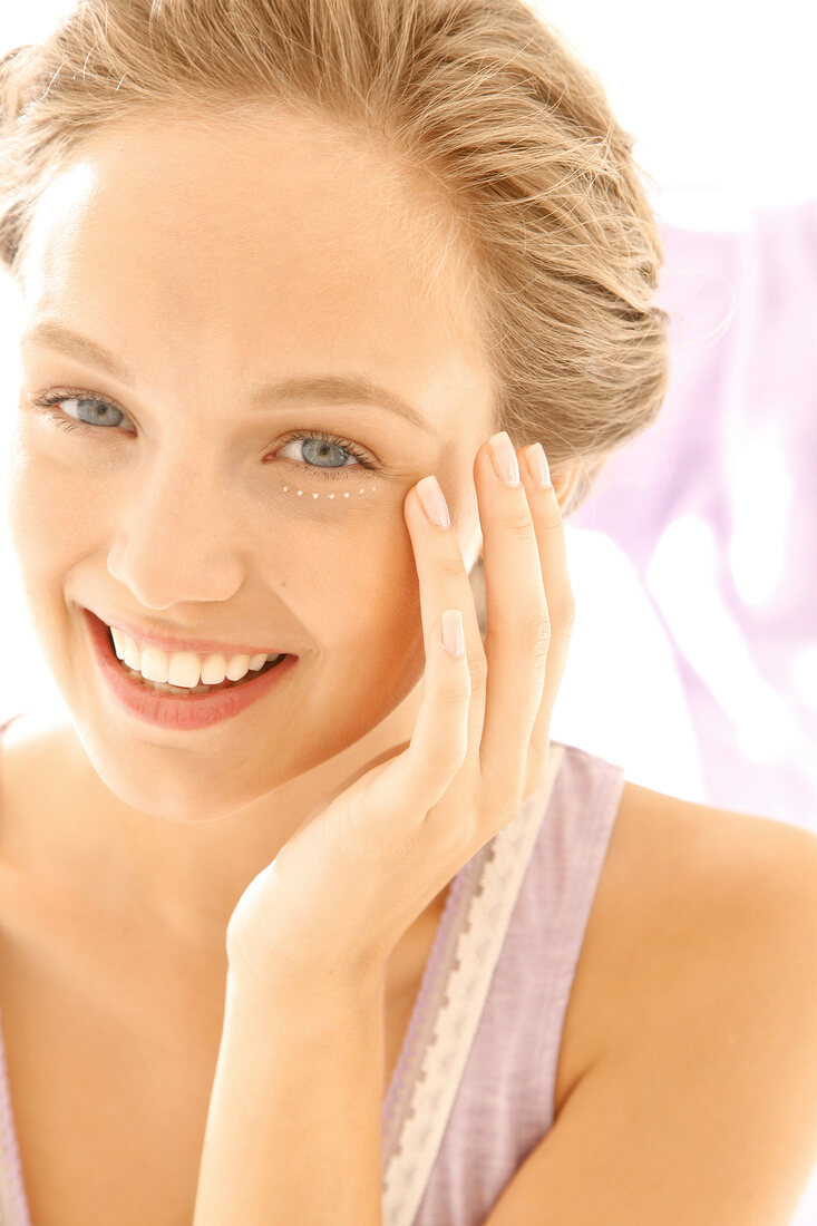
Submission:
{"label": "woman's blonde hair swept back from her forehead", "polygon": [[448,206],[429,259],[469,275],[494,428],[557,484],[580,461],[578,509],[666,394],[664,250],[634,137],[523,0],[76,0],[0,60],[0,262],[21,272],[42,191],[104,125],[256,102],[378,141]]}

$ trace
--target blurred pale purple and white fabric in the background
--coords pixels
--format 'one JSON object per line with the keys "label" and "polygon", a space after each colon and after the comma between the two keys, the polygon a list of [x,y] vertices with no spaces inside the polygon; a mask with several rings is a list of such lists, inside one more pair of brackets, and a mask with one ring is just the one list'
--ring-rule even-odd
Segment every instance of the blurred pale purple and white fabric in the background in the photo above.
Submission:
{"label": "blurred pale purple and white fabric in the background", "polygon": [[[736,232],[661,232],[667,398],[570,522],[638,570],[708,803],[817,831],[817,201],[758,210]],[[673,539],[664,582],[686,592],[685,624],[700,615],[694,640],[653,595]]]}

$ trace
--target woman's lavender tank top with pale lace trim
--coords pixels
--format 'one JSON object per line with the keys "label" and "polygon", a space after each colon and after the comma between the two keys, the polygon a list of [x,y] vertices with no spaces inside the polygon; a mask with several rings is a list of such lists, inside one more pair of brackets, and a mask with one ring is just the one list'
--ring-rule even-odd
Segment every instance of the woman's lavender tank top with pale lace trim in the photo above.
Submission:
{"label": "woman's lavender tank top with pale lace trim", "polygon": [[[622,766],[551,742],[541,787],[454,878],[383,1103],[384,1226],[482,1226],[553,1127],[564,1015],[624,782]],[[32,1226],[1,1030],[0,1226]]]}

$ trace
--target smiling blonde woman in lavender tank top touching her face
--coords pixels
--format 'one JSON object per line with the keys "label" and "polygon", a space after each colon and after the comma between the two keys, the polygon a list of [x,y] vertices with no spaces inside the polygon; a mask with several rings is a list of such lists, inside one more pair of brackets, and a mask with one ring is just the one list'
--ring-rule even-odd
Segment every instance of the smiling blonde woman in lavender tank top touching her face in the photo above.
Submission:
{"label": "smiling blonde woman in lavender tank top touching her face", "polygon": [[2,738],[2,1226],[784,1224],[815,839],[548,737],[667,380],[597,81],[516,0],[85,0],[2,72],[66,707]]}

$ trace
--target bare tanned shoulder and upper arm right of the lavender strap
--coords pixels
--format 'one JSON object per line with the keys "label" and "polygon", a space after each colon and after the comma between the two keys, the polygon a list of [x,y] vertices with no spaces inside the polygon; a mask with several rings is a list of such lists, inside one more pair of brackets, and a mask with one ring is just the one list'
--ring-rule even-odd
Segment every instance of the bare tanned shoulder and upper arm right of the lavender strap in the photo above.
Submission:
{"label": "bare tanned shoulder and upper arm right of the lavender strap", "polygon": [[627,785],[556,1122],[486,1226],[785,1226],[816,1161],[817,835]]}

